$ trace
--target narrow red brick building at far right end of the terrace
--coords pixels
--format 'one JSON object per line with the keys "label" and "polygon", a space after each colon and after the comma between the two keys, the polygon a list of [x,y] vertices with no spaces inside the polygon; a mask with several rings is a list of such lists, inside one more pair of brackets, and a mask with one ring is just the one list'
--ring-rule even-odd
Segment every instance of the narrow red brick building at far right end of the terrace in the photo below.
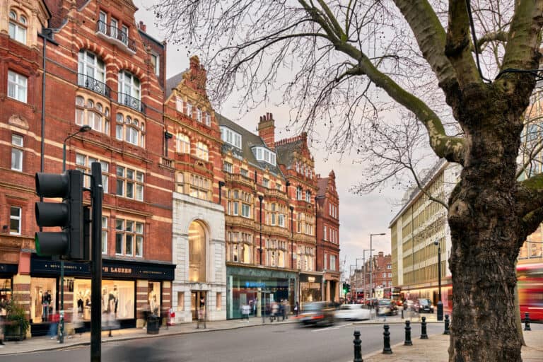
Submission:
{"label": "narrow red brick building at far right end of the terrace", "polygon": [[339,302],[339,197],[336,175],[317,175],[317,271],[323,272],[325,300]]}

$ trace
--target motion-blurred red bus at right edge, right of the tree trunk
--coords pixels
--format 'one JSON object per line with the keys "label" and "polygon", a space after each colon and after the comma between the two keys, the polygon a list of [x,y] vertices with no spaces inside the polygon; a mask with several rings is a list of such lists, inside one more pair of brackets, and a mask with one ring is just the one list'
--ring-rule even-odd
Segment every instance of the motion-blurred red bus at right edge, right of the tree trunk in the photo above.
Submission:
{"label": "motion-blurred red bus at right edge, right of the tree trunk", "polygon": [[530,313],[530,320],[543,320],[543,263],[517,266],[520,317]]}

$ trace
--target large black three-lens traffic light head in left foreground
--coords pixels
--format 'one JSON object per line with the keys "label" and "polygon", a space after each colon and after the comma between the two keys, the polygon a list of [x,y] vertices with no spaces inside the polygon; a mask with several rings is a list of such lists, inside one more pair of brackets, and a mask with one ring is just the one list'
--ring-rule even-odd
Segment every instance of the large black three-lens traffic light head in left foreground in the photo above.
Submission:
{"label": "large black three-lens traffic light head in left foreground", "polygon": [[38,255],[59,255],[64,259],[88,256],[83,235],[83,174],[80,170],[64,173],[36,173],[36,193],[40,197],[62,197],[62,202],[36,202],[36,223],[42,227],[60,227],[62,231],[35,233]]}

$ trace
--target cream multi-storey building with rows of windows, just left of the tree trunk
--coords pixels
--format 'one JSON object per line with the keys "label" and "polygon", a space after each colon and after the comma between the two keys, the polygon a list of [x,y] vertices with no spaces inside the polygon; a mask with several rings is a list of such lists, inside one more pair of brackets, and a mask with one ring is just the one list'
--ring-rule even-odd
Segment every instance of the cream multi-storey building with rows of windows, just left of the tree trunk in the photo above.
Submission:
{"label": "cream multi-storey building with rows of windows, just left of the tree trunk", "polygon": [[[447,202],[460,177],[460,166],[440,160],[423,180],[424,190]],[[451,308],[452,284],[448,267],[450,230],[447,210],[419,189],[411,189],[404,206],[390,222],[392,285],[407,299],[429,298],[438,302],[438,247],[441,250],[441,300]]]}

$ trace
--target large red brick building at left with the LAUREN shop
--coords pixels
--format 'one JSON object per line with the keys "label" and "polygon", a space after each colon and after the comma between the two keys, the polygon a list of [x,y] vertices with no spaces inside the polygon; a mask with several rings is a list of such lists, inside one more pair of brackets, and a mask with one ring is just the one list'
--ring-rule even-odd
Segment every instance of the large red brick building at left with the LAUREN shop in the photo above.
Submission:
{"label": "large red brick building at left with the LAUREN shop", "polygon": [[[62,172],[66,144],[66,168],[88,173],[93,161],[102,164],[102,308],[134,327],[146,305],[169,308],[175,268],[174,173],[163,158],[165,45],[136,26],[132,1],[34,3],[1,3],[0,42],[10,49],[0,60],[0,87],[8,88],[0,98],[1,152],[12,158],[0,160],[0,215],[11,225],[1,233],[0,247],[10,251],[0,263],[32,334],[44,332],[59,308],[59,263],[32,251],[34,174]],[[47,18],[52,30],[44,30]],[[83,125],[91,131],[71,136]],[[88,264],[66,263],[64,286],[66,319],[90,320]]]}

